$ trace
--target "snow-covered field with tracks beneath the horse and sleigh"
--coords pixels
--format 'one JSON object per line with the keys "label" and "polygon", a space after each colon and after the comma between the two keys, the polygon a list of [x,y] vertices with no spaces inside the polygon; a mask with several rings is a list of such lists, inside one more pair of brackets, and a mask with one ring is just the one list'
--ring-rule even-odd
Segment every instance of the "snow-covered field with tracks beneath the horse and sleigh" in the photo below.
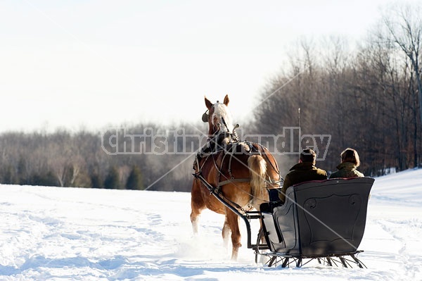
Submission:
{"label": "snow-covered field with tracks beneath the horse and sleigh", "polygon": [[230,261],[223,216],[192,236],[188,193],[1,185],[0,213],[0,280],[422,280],[422,170],[376,179],[367,269],[267,268],[245,246]]}

